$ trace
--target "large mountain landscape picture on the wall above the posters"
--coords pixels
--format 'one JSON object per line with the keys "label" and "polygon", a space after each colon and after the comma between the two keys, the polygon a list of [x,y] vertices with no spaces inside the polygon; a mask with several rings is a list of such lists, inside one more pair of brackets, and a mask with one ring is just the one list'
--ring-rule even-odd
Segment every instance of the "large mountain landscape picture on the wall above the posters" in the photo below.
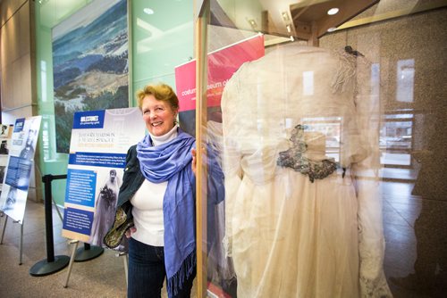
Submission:
{"label": "large mountain landscape picture on the wall above the posters", "polygon": [[89,4],[53,29],[58,153],[69,152],[74,112],[129,106],[127,1],[92,4],[109,8]]}

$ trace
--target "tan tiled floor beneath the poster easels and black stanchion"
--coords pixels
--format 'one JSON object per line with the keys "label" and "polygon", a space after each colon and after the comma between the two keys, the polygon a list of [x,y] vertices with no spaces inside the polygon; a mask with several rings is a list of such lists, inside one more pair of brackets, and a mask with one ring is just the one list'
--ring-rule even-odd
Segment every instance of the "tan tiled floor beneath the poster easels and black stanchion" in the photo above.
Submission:
{"label": "tan tiled floor beneath the poster easels and black stanchion", "polygon": [[[5,217],[1,218],[3,229]],[[55,256],[70,256],[72,245],[61,236],[62,222],[53,212]],[[45,211],[41,203],[28,202],[23,223],[23,257],[20,261],[20,224],[8,219],[0,245],[0,297],[125,297],[123,257],[111,250],[96,259],[74,262],[68,287],[68,267],[43,277],[30,276],[30,268],[46,260]],[[83,244],[80,244],[83,247]]]}

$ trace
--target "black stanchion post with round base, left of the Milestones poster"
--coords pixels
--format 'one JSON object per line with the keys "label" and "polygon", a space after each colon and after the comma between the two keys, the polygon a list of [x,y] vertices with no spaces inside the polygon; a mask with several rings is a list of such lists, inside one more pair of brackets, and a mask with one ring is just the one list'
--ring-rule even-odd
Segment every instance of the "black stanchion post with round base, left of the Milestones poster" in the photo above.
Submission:
{"label": "black stanchion post with round base, left of the Milestones poster", "polygon": [[45,187],[45,228],[46,228],[46,260],[38,261],[30,268],[30,275],[33,277],[43,277],[64,269],[70,257],[66,255],[55,256],[54,239],[53,239],[53,211],[52,211],[52,194],[51,182],[54,179],[67,178],[67,175],[45,175],[42,182]]}

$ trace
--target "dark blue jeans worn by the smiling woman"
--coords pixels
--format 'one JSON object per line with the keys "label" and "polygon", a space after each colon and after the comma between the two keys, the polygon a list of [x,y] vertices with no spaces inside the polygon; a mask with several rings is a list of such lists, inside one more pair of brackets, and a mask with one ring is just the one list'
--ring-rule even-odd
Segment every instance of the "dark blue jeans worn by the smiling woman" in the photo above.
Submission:
{"label": "dark blue jeans worn by the smiling woman", "polygon": [[[129,239],[128,298],[159,298],[166,277],[163,246],[143,244]],[[183,288],[172,298],[189,298],[196,269]],[[171,298],[171,297],[170,297]]]}

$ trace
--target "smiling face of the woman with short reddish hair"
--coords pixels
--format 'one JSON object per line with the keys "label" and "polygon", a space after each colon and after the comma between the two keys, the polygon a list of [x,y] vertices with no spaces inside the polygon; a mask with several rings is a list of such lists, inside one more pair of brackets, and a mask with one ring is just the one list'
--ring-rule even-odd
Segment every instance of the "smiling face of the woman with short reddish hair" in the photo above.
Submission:
{"label": "smiling face of the woman with short reddish hair", "polygon": [[173,129],[177,110],[168,102],[157,100],[154,95],[146,95],[141,103],[141,112],[152,136],[160,137]]}

